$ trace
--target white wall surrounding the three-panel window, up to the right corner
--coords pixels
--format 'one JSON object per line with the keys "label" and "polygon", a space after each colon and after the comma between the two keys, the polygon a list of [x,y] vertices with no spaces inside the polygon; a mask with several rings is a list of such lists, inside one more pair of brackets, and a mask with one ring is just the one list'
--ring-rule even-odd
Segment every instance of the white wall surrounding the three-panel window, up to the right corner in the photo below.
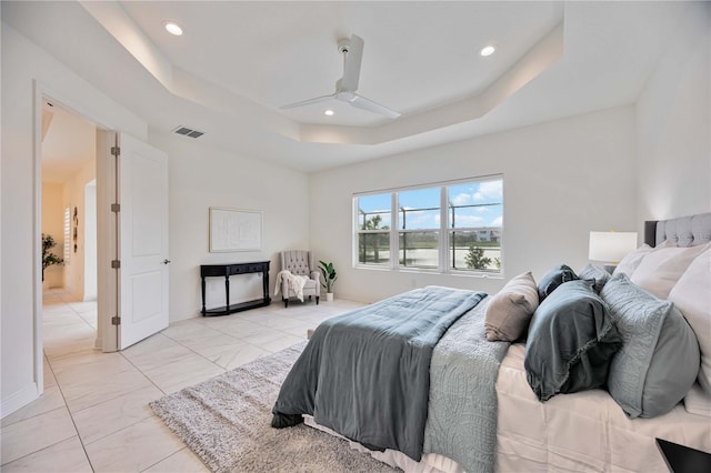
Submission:
{"label": "white wall surrounding the three-panel window, up to the right corner", "polygon": [[503,173],[504,280],[588,262],[591,230],[633,231],[634,110],[621,107],[339,168],[311,177],[311,248],[337,296],[373,301],[425,284],[498,291],[502,279],[354,269],[356,192]]}

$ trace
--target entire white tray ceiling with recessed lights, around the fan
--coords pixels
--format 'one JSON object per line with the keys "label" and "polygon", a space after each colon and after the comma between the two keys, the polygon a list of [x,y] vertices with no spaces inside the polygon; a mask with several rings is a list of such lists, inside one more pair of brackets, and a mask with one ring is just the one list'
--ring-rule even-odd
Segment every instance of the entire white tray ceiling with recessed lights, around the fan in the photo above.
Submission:
{"label": "entire white tray ceiling with recessed lights, around the fan", "polygon": [[[2,20],[168,132],[306,172],[632,103],[683,2],[2,2]],[[182,37],[164,32],[176,20]],[[359,93],[336,103],[340,38],[364,39]],[[498,51],[481,58],[493,42]],[[187,139],[187,138],[186,138]]]}

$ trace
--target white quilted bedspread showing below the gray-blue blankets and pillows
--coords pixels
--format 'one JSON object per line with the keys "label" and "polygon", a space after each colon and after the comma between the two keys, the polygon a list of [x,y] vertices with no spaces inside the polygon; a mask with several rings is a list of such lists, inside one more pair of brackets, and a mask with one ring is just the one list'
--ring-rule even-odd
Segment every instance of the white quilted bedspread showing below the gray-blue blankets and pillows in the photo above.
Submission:
{"label": "white quilted bedspread showing below the gray-blue blankets and pillows", "polygon": [[[655,437],[711,451],[711,417],[690,414],[682,403],[659,417],[629,420],[603,390],[539,402],[525,381],[524,352],[524,345],[512,344],[499,370],[497,472],[667,473]],[[307,425],[344,439],[312,416],[303,417]],[[351,449],[407,473],[464,473],[440,454],[425,453],[415,462],[402,452],[377,452],[349,442]]]}

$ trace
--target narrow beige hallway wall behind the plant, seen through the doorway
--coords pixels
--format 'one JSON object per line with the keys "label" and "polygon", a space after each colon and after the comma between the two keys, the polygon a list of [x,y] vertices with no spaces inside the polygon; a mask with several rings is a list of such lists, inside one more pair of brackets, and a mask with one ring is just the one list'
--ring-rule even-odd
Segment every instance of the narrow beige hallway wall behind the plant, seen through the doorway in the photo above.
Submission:
{"label": "narrow beige hallway wall behind the plant, seen through the doorway", "polygon": [[[52,235],[57,244],[50,251],[64,258],[64,205],[62,205],[62,184],[42,183],[42,233]],[[60,265],[51,265],[44,270],[47,289],[64,285],[64,270]]]}

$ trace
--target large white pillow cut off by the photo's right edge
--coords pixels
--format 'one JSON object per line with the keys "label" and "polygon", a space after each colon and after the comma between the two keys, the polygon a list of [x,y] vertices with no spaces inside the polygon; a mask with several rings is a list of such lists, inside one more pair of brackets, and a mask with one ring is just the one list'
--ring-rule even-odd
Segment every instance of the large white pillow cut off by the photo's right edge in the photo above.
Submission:
{"label": "large white pillow cut off by the photo's right edge", "polygon": [[711,396],[711,249],[689,264],[668,299],[677,305],[697,334],[701,350],[699,384]]}

